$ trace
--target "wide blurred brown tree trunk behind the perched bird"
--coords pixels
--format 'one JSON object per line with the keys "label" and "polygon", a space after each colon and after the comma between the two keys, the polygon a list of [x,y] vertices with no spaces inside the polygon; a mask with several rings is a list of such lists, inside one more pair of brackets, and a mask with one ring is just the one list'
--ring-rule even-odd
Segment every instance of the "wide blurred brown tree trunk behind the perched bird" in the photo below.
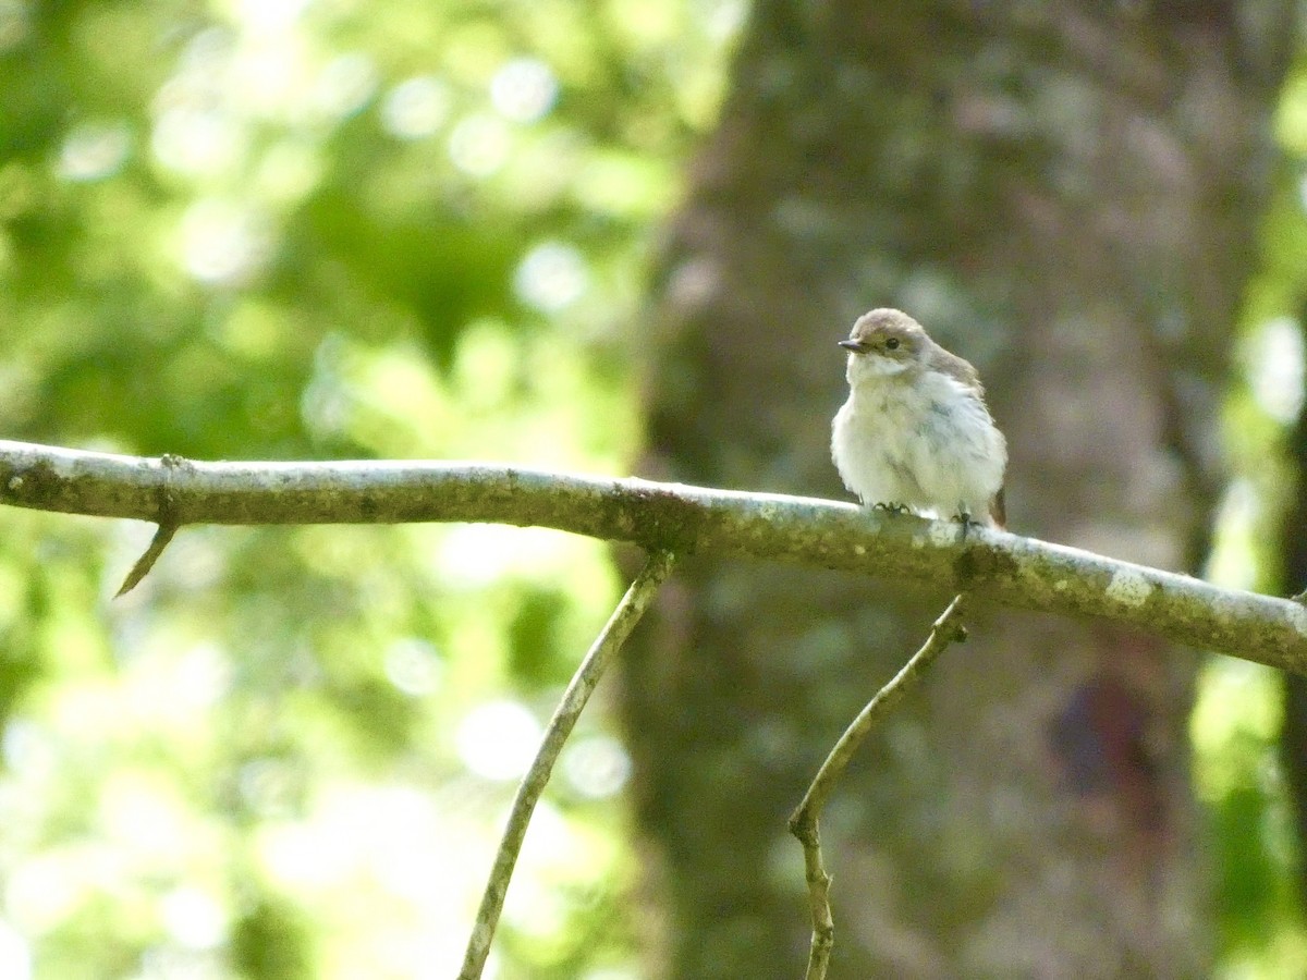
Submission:
{"label": "wide blurred brown tree trunk behind the perched bird", "polygon": [[[661,259],[644,472],[842,495],[835,341],[972,361],[1018,533],[1192,570],[1287,0],[758,0]],[[625,666],[655,975],[797,977],[786,818],[948,595],[691,562]],[[833,975],[1199,976],[1197,657],[992,610],[823,822]]]}

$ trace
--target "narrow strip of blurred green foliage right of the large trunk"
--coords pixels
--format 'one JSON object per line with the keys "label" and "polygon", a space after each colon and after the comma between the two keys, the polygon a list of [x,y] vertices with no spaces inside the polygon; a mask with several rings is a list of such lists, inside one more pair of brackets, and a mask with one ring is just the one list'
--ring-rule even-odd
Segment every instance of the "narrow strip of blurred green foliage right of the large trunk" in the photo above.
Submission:
{"label": "narrow strip of blurred green foliage right of the large trunk", "polygon": [[[1272,595],[1281,578],[1281,527],[1302,474],[1287,452],[1303,400],[1307,310],[1307,74],[1299,64],[1281,98],[1278,136],[1287,158],[1263,226],[1261,268],[1239,325],[1239,362],[1225,410],[1231,483],[1208,575]],[[1192,717],[1195,781],[1212,825],[1218,882],[1221,975],[1300,976],[1307,929],[1297,892],[1303,860],[1277,742],[1281,678],[1269,668],[1214,660],[1200,677]]]}

